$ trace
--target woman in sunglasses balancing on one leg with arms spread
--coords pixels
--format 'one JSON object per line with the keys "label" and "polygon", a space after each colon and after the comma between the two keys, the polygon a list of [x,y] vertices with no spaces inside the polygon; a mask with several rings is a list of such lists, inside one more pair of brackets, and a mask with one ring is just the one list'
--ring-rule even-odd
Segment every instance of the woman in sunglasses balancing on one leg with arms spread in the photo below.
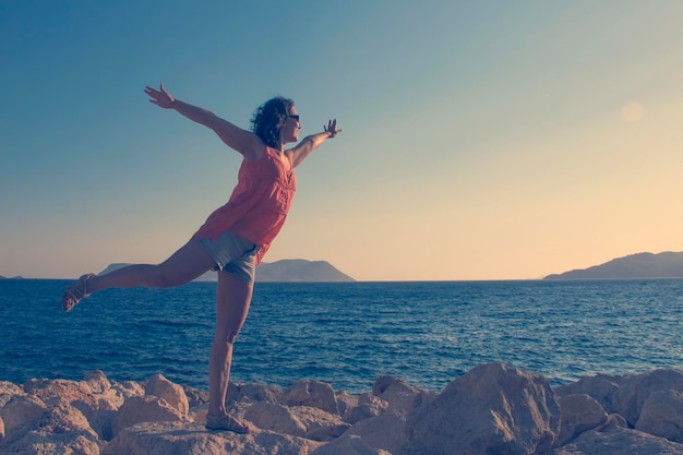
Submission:
{"label": "woman in sunglasses balancing on one leg with arms spread", "polygon": [[188,119],[214,130],[230,148],[242,155],[238,183],[226,205],[216,209],[190,241],[159,265],[137,264],[106,275],[83,275],[62,298],[64,311],[105,288],[172,287],[191,282],[206,271],[218,272],[216,333],[209,356],[206,428],[248,433],[244,422],[227,415],[225,407],[232,345],[247,319],[255,267],[285,223],[297,187],[293,168],[313,149],[342,132],[331,120],[323,132],[297,142],[301,124],[293,101],[273,98],[254,112],[253,132],[242,130],[213,112],[173,98],[161,84],[145,87],[149,101],[175,109]]}

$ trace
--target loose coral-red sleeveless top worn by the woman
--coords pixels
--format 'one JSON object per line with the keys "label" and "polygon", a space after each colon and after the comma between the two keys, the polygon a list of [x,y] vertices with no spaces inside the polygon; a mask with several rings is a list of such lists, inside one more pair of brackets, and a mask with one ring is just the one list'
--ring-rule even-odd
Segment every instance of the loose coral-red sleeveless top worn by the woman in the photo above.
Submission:
{"label": "loose coral-red sleeveless top worn by the woman", "polygon": [[297,190],[291,156],[287,157],[289,169],[271,147],[255,161],[242,160],[230,200],[192,237],[215,240],[229,230],[261,246],[257,265],[283,228]]}

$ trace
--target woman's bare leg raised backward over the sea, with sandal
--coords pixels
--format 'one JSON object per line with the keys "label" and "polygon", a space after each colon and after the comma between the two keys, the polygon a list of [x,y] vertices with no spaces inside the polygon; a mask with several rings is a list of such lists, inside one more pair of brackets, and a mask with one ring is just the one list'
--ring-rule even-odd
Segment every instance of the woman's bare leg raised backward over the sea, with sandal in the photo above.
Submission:
{"label": "woman's bare leg raised backward over the sea, with sandal", "polygon": [[84,275],[62,299],[65,311],[93,292],[105,288],[173,287],[189,283],[215,265],[199,241],[190,240],[159,265],[129,265],[106,275]]}

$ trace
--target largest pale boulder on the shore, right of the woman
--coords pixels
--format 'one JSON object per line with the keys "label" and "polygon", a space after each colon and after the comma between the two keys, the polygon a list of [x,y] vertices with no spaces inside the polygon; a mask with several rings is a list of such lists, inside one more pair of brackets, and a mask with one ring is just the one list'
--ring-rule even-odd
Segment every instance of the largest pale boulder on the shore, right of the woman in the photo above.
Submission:
{"label": "largest pale boulder on the shore, right of the woman", "polygon": [[560,408],[546,378],[489,363],[416,408],[406,427],[411,454],[528,455],[551,448]]}

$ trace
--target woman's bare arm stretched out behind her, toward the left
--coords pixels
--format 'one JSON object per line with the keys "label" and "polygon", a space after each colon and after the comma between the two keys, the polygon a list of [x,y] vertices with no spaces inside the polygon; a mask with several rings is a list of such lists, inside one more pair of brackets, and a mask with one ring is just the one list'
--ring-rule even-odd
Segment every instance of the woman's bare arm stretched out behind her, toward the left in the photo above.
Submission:
{"label": "woman's bare arm stretched out behind her, toward the left", "polygon": [[259,159],[264,153],[264,146],[257,135],[251,131],[242,130],[227,120],[216,116],[211,110],[193,106],[191,104],[176,99],[166,91],[164,84],[157,91],[149,86],[145,87],[145,93],[149,96],[149,103],[164,109],[175,109],[181,116],[211,128],[230,148],[240,153],[247,159]]}

